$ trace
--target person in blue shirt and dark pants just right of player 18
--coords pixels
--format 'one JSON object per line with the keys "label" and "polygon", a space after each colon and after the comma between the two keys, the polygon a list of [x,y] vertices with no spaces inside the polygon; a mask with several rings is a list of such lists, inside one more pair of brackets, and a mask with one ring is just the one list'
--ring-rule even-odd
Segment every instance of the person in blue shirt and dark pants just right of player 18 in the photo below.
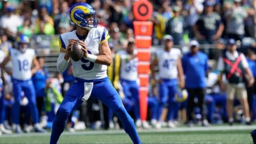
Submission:
{"label": "person in blue shirt and dark pants just right of player 18", "polygon": [[39,68],[35,71],[35,74],[32,76],[32,81],[35,87],[36,93],[36,105],[38,108],[38,114],[41,118],[42,115],[45,115],[45,87],[48,83],[48,69],[45,67],[45,59],[43,57],[37,57]]}

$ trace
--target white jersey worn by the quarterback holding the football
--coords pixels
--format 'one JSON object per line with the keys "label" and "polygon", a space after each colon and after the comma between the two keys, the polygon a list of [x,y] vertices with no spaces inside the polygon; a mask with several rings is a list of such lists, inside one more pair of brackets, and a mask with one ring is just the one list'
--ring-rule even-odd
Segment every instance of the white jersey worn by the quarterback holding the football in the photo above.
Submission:
{"label": "white jersey worn by the quarterback holding the football", "polygon": [[[110,38],[108,31],[104,27],[93,28],[89,31],[86,40],[87,50],[89,54],[99,55],[99,45],[105,40]],[[63,33],[59,37],[60,49],[66,51],[69,45],[69,40],[79,39],[76,35],[76,31]],[[107,77],[106,69],[107,66],[103,64],[97,64],[86,60],[84,57],[79,61],[74,61],[71,59],[73,65],[73,75],[76,78],[81,78],[84,80],[102,79]]]}

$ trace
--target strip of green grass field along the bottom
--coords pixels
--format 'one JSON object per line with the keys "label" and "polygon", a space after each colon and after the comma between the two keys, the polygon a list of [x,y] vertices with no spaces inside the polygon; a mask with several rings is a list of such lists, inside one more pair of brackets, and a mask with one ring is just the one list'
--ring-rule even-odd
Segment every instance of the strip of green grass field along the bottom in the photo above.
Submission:
{"label": "strip of green grass field along the bottom", "polygon": [[[252,143],[256,126],[211,126],[138,130],[144,144],[150,143]],[[0,143],[49,143],[50,132],[0,136]],[[64,132],[58,143],[132,143],[123,130]]]}

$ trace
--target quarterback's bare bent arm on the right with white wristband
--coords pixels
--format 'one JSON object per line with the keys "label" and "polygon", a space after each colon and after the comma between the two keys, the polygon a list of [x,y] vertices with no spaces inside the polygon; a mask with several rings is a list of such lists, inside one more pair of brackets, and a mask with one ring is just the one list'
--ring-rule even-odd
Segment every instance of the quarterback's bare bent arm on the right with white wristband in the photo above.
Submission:
{"label": "quarterback's bare bent arm on the right with white wristband", "polygon": [[93,54],[89,54],[87,52],[86,45],[82,41],[79,41],[79,42],[80,42],[80,45],[82,46],[82,50],[84,51],[84,57],[87,60],[98,63],[98,64],[104,64],[104,65],[110,66],[110,64],[112,63],[112,54],[111,54],[108,40],[105,40],[100,43],[99,45],[100,55],[97,55],[97,56]]}

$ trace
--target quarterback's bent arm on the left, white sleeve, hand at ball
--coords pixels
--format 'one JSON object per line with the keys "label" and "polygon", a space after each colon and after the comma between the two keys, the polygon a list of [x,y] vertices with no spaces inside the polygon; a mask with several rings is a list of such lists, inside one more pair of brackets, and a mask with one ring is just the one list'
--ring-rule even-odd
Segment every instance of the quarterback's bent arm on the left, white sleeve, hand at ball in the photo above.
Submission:
{"label": "quarterback's bent arm on the left, white sleeve, hand at ball", "polygon": [[59,49],[59,56],[58,56],[58,60],[57,60],[57,70],[60,74],[63,73],[63,71],[65,71],[69,65],[69,59],[70,59],[70,55],[69,55],[69,49],[71,48],[72,44],[74,44],[74,40],[70,40],[69,41],[69,45],[67,46],[67,50],[63,49],[60,46]]}

